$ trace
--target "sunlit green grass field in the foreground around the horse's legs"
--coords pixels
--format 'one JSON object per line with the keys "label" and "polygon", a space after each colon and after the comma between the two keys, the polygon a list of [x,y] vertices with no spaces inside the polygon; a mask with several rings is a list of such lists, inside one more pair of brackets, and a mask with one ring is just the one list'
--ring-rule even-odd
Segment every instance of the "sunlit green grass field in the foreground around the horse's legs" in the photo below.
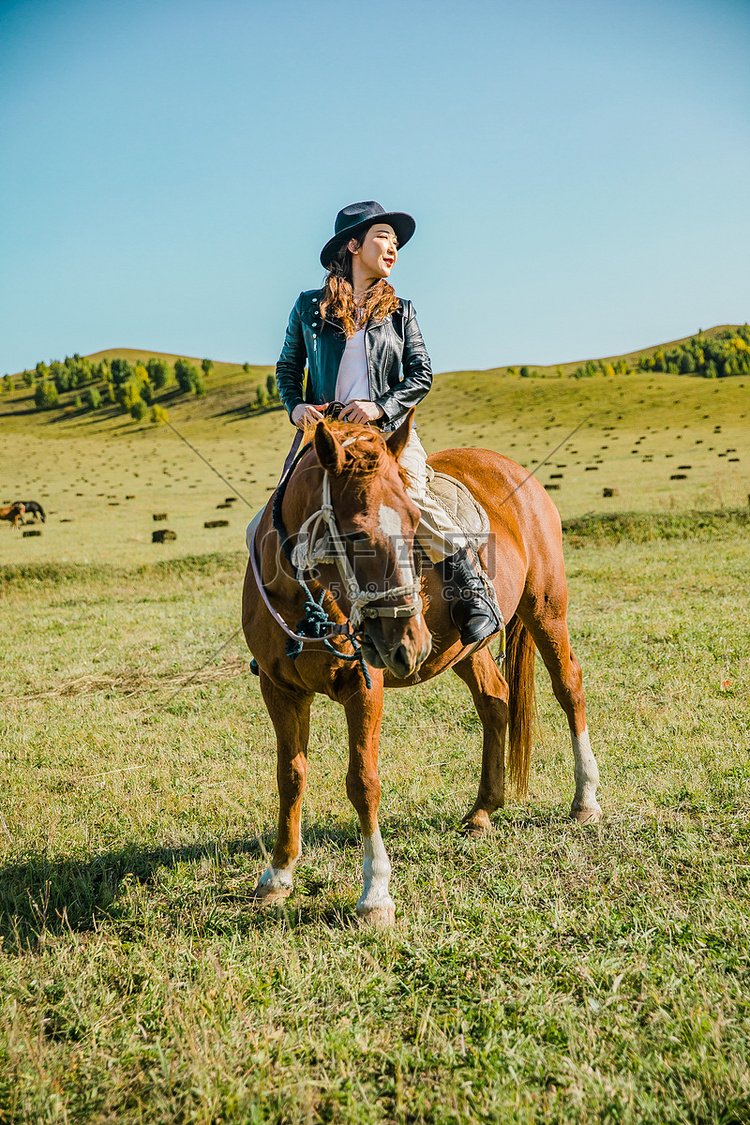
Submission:
{"label": "sunlit green grass field in the foreground around the horse's legs", "polygon": [[277,798],[249,654],[172,698],[236,628],[241,552],[6,567],[0,1120],[748,1120],[743,514],[568,533],[598,827],[566,818],[541,672],[530,796],[478,842],[462,685],[388,694],[389,933],[356,926],[325,700],[297,890],[251,904]]}

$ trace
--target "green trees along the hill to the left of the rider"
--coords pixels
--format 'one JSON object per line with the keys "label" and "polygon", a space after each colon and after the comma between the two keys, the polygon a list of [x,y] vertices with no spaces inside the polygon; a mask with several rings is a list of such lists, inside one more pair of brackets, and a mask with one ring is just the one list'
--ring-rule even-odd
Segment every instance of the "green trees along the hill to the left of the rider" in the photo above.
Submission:
{"label": "green trees along the hill to the left of the rider", "polygon": [[[154,423],[166,421],[166,411],[155,399],[165,390],[174,388],[177,394],[195,394],[204,398],[208,393],[207,379],[214,370],[214,361],[205,359],[200,368],[188,359],[179,358],[174,364],[152,357],[145,363],[132,363],[123,357],[102,359],[92,363],[78,352],[64,360],[54,360],[48,366],[39,362],[33,370],[21,375],[25,386],[34,388],[34,402],[38,411],[48,411],[65,405],[67,410],[98,411],[101,407],[119,406],[136,422],[142,422],[151,412]],[[250,372],[249,363],[243,370]],[[6,392],[16,389],[15,380],[7,375],[2,379]],[[67,404],[61,395],[79,392]],[[82,394],[80,392],[83,392]],[[255,390],[254,408],[264,410],[280,402],[275,377],[269,375],[265,386]]]}

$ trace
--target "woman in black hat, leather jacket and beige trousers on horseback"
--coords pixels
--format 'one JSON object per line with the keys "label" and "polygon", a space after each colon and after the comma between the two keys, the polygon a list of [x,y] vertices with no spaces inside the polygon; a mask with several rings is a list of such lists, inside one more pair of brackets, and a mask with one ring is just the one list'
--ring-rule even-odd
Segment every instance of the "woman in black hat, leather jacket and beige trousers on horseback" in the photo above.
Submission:
{"label": "woman in black hat, leather jacket and beige trousers on horseback", "polygon": [[[334,236],[320,253],[328,277],[323,289],[297,298],[275,369],[279,394],[300,431],[336,403],[342,421],[388,433],[430,390],[430,357],[414,307],[387,281],[415,227],[410,215],[386,212],[374,200],[338,212]],[[407,495],[419,508],[417,541],[442,574],[461,642],[479,645],[501,622],[466,536],[427,492],[426,464],[412,426],[400,466],[409,478]]]}

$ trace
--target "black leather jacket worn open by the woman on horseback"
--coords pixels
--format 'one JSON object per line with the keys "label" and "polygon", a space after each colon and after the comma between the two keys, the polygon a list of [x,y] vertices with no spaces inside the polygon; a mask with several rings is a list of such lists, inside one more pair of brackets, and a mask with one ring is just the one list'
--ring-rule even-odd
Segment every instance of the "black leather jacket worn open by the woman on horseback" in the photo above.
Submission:
{"label": "black leather jacket worn open by the woman on horseback", "polygon": [[[336,397],[346,338],[335,322],[320,320],[318,306],[324,291],[300,292],[289,317],[275,377],[290,415],[299,403],[331,403]],[[381,430],[395,430],[432,385],[430,357],[412,303],[401,300],[396,312],[380,324],[368,323],[364,348],[370,398],[383,412],[378,425]]]}

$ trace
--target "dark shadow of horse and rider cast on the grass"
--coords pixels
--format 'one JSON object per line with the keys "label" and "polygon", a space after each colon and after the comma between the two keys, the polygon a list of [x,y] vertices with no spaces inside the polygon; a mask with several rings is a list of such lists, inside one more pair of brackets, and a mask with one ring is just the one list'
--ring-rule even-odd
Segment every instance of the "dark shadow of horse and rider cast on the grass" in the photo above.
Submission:
{"label": "dark shadow of horse and rider cast on the grass", "polygon": [[[514,809],[500,813],[496,827],[501,832],[504,825],[510,822],[518,828],[545,828],[559,832],[569,828],[569,821],[557,810],[533,808]],[[459,850],[467,845],[467,837],[459,832],[459,822],[445,816],[444,812],[425,812],[414,810],[408,817],[388,817],[382,824],[383,835],[394,856],[401,855],[403,862],[414,862],[410,853],[414,838],[425,834],[428,838],[439,835],[445,839],[452,837]],[[351,821],[324,819],[305,825],[306,850],[329,846],[333,850],[346,854],[358,854],[361,848],[359,825],[352,817]],[[93,855],[89,858],[63,857],[51,860],[45,855],[29,856],[22,862],[7,864],[0,867],[0,942],[3,950],[11,954],[33,952],[45,935],[60,935],[64,932],[85,933],[97,929],[108,921],[126,921],[118,902],[124,893],[123,881],[133,876],[143,886],[153,885],[159,872],[180,864],[197,867],[201,861],[216,861],[215,885],[209,890],[209,897],[216,904],[252,908],[252,889],[254,876],[247,882],[244,874],[240,884],[236,883],[236,871],[232,870],[233,858],[249,856],[259,862],[259,872],[266,862],[273,848],[275,826],[266,825],[261,836],[226,839],[207,839],[202,844],[183,845],[180,847],[143,848],[129,845],[117,852]],[[349,863],[350,857],[346,858]],[[460,857],[457,855],[457,862]],[[227,864],[227,861],[229,863]],[[316,896],[326,889],[327,884],[318,882],[315,874],[306,873],[304,867],[297,879],[295,897],[278,907],[266,909],[250,909],[242,917],[224,919],[222,929],[229,928],[241,932],[257,928],[272,922],[280,914],[287,922],[305,926],[324,924],[329,927],[350,927],[355,924],[353,903],[316,902]],[[205,879],[196,880],[196,894],[200,883],[205,897]],[[188,891],[187,899],[180,894],[173,904],[179,907],[178,915],[183,915],[184,903],[192,898]],[[168,912],[172,914],[171,910]],[[180,925],[178,918],[172,924]]]}

